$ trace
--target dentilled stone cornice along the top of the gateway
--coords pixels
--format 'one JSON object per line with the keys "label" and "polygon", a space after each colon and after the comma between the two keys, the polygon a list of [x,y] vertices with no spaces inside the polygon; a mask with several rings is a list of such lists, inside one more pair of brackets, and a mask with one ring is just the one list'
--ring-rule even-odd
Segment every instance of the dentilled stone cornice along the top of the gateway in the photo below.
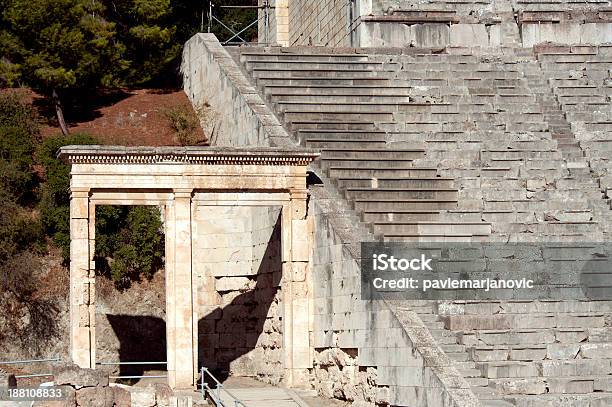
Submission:
{"label": "dentilled stone cornice along the top of the gateway", "polygon": [[306,166],[319,156],[312,149],[228,147],[65,146],[58,158],[68,164],[199,164]]}

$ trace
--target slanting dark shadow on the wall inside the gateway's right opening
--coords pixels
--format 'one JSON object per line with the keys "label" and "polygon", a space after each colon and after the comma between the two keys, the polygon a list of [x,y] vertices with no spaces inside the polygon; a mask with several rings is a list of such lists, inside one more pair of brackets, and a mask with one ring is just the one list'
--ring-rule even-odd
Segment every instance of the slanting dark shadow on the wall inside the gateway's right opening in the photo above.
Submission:
{"label": "slanting dark shadow on the wall inside the gateway's right opening", "polygon": [[[230,304],[215,309],[198,321],[198,366],[209,368],[221,382],[229,377],[233,361],[256,348],[268,311],[280,289],[280,224],[279,216],[254,276],[255,287],[239,294]],[[216,335],[218,339],[211,341]],[[227,339],[231,340],[230,345],[227,344]],[[215,340],[218,340],[217,348],[214,347]],[[210,360],[213,355],[216,360]]]}

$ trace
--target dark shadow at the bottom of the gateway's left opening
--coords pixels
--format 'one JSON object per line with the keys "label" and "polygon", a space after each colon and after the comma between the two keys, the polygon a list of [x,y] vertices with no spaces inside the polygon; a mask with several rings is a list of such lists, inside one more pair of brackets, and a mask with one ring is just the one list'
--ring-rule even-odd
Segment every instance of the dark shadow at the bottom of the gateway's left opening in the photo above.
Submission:
{"label": "dark shadow at the bottom of the gateway's left opening", "polygon": [[[166,361],[166,322],[158,317],[111,315],[106,318],[119,339],[120,362]],[[111,366],[112,367],[112,366]],[[166,365],[120,365],[120,376],[142,376]]]}

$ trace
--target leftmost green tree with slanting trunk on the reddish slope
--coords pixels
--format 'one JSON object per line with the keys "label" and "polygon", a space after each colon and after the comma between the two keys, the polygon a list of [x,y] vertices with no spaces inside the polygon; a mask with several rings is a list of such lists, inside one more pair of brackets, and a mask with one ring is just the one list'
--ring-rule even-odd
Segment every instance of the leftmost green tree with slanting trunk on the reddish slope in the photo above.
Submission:
{"label": "leftmost green tree with slanting trunk on the reddish slope", "polygon": [[115,86],[129,62],[115,40],[115,24],[91,0],[1,0],[0,77],[23,81],[52,98],[60,128],[68,134],[63,92]]}

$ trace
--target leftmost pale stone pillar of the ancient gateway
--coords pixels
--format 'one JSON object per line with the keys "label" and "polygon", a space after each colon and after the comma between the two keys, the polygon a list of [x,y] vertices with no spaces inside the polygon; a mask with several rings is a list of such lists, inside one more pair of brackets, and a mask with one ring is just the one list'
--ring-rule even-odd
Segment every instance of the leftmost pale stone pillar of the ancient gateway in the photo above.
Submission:
{"label": "leftmost pale stone pillar of the ancient gateway", "polygon": [[70,357],[95,368],[95,207],[89,189],[72,188],[70,196]]}

